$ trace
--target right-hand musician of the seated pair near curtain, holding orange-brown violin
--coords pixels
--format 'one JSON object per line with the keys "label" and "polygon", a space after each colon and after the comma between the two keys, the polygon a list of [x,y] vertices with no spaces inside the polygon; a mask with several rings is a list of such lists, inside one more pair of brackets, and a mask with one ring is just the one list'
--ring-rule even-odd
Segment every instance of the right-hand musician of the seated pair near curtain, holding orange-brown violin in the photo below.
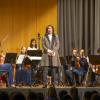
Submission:
{"label": "right-hand musician of the seated pair near curtain, holding orange-brown violin", "polygon": [[76,61],[76,63],[78,63],[79,65],[76,65],[76,68],[74,69],[73,73],[75,75],[75,77],[77,77],[76,84],[80,84],[82,82],[82,79],[84,77],[84,75],[86,74],[87,70],[88,70],[88,57],[85,56],[85,51],[84,49],[80,50],[80,56],[79,58],[77,58],[78,61]]}

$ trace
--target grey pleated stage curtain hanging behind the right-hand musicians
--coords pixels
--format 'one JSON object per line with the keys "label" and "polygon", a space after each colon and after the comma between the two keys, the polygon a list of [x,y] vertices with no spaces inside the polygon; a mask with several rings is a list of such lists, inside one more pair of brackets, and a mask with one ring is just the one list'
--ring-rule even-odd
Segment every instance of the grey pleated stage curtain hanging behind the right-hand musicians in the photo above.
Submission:
{"label": "grey pleated stage curtain hanging behind the right-hand musicians", "polygon": [[97,54],[100,48],[100,0],[58,0],[60,56],[72,49]]}

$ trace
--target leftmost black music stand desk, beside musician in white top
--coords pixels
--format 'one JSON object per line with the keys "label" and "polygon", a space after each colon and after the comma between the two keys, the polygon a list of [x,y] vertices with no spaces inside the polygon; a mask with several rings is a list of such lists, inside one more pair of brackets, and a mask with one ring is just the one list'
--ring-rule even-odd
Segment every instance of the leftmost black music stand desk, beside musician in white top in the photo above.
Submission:
{"label": "leftmost black music stand desk, beside musician in white top", "polygon": [[17,53],[6,53],[4,63],[15,64],[16,63]]}

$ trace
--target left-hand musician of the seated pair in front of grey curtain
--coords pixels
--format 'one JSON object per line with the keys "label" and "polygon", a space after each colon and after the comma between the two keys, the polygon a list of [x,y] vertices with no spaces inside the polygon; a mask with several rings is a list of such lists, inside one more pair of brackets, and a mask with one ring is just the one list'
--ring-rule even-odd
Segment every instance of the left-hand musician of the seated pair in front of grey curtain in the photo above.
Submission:
{"label": "left-hand musician of the seated pair in front of grey curtain", "polygon": [[73,71],[76,67],[76,58],[77,58],[77,49],[74,48],[72,50],[72,58],[71,58],[70,68],[68,70],[64,70],[64,73],[65,73],[65,76],[67,78],[69,85],[73,85],[75,83]]}

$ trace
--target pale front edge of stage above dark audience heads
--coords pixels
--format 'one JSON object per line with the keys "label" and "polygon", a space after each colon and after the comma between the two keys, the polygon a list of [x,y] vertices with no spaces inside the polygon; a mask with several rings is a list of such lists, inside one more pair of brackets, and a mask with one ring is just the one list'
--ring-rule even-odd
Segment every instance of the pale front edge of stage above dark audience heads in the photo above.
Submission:
{"label": "pale front edge of stage above dark audience heads", "polygon": [[[57,94],[59,93],[59,91],[61,90],[66,90],[69,94],[70,94],[70,89],[72,87],[71,86],[58,86],[56,87],[56,91],[57,91]],[[77,87],[78,88],[78,93],[79,93],[79,96],[80,96],[80,100],[83,100],[83,96],[84,96],[84,93],[86,91],[98,91],[100,93],[100,87]],[[38,92],[41,92],[44,94],[44,96],[47,95],[47,92],[48,92],[48,88],[42,88],[42,86],[37,86],[37,87],[16,87],[16,88],[0,88],[0,91],[6,91],[9,95],[13,92],[22,92],[25,97],[28,96],[28,93],[31,92],[31,91],[34,91],[36,93]]]}

